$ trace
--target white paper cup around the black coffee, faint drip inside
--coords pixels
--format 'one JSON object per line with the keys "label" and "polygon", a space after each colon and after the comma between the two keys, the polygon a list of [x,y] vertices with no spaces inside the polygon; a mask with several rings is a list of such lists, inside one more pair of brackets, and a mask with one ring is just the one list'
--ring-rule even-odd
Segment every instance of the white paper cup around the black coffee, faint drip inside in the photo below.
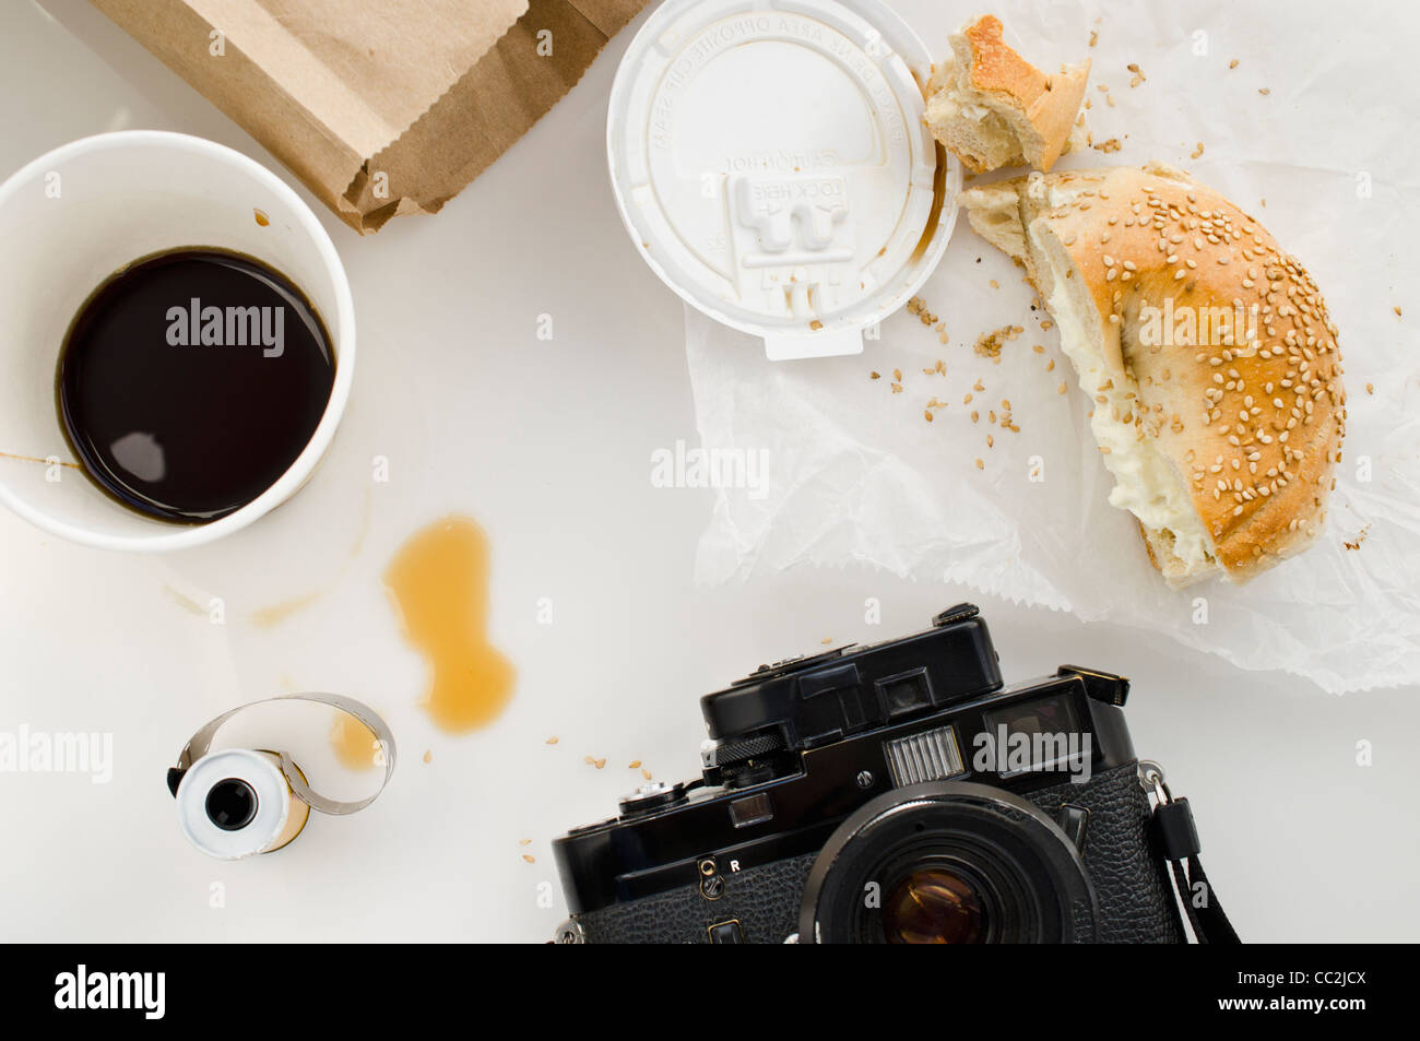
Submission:
{"label": "white paper cup around the black coffee, faint drip inside", "polygon": [[[133,260],[182,247],[244,253],[284,274],[315,305],[335,352],[329,402],[295,462],[240,510],[190,527],[128,510],[62,464],[74,454],[54,388],[65,331],[88,295]],[[175,550],[244,528],[305,483],[349,398],[355,310],[335,246],[280,178],[202,138],[84,138],[0,185],[0,503],[87,545]]]}

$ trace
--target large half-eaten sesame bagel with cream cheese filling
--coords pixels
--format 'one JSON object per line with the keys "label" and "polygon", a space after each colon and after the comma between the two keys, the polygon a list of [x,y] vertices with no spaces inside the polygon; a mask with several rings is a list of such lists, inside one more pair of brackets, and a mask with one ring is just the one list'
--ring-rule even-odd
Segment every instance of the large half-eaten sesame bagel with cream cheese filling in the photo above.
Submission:
{"label": "large half-eaten sesame bagel with cream cheese filling", "polygon": [[1316,538],[1346,420],[1336,327],[1261,224],[1167,166],[1032,173],[961,203],[1049,308],[1109,501],[1170,585],[1244,582]]}

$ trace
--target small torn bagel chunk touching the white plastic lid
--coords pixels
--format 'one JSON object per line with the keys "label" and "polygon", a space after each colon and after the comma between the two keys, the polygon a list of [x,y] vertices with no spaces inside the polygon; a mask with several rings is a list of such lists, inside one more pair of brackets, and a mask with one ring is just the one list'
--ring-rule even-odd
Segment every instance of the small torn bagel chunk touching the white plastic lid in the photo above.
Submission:
{"label": "small torn bagel chunk touching the white plastic lid", "polygon": [[1041,170],[1083,146],[1089,60],[1047,75],[1001,38],[987,14],[950,37],[953,57],[932,70],[927,126],[974,173],[1030,163]]}

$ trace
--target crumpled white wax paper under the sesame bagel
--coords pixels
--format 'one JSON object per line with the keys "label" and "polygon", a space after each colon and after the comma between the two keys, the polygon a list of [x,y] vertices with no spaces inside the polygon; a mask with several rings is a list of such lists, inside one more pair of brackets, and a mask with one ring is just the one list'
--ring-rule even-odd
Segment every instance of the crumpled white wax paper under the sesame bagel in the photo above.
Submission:
{"label": "crumpled white wax paper under the sesame bagel", "polygon": [[[978,13],[895,6],[934,54]],[[985,10],[1042,65],[1093,60],[1093,141],[1116,138],[1120,148],[1066,156],[1056,169],[1147,160],[1189,169],[1309,268],[1340,331],[1349,399],[1325,534],[1245,587],[1169,589],[1133,516],[1106,501],[1113,479],[1056,329],[1041,328],[1048,315],[1032,310],[1021,271],[961,214],[922,291],[946,322],[947,344],[899,312],[862,356],[768,362],[757,339],[687,308],[703,446],[770,460],[767,490],[719,490],[697,579],[866,562],[1153,629],[1335,693],[1420,682],[1420,102],[1407,54],[1420,38],[1420,6],[1017,1]],[[1130,64],[1143,74],[1133,87]],[[977,356],[977,337],[1004,325],[1024,332],[998,364]],[[923,372],[939,359],[946,375]],[[978,381],[983,391],[973,389]],[[947,406],[927,422],[933,398]],[[1020,433],[990,423],[1003,399]],[[1031,480],[1032,472],[1044,479]]]}

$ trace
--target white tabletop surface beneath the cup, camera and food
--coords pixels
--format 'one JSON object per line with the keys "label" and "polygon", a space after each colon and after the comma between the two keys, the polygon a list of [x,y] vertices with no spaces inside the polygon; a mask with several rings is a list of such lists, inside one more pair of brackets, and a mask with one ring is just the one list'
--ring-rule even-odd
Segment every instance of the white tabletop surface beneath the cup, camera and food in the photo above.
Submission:
{"label": "white tabletop surface beneath the cup, camera and food", "polygon": [[[895,6],[933,45],[971,13]],[[6,7],[0,175],[88,133],[162,128],[295,183],[85,4],[47,0],[57,18],[30,0]],[[981,604],[1008,679],[1062,662],[1133,679],[1136,748],[1193,802],[1245,939],[1413,939],[1416,689],[1336,699],[1160,636],[866,571],[693,587],[711,494],[649,480],[653,450],[696,443],[682,305],[638,258],[605,175],[605,98],[628,38],[436,217],[361,239],[298,189],[349,271],[361,349],[331,459],[277,514],[163,558],[77,548],[0,516],[0,730],[108,731],[115,757],[108,784],[0,774],[0,939],[544,940],[564,916],[551,838],[611,814],[639,780],[632,758],[694,775],[699,694],[825,638],[914,631],[963,599]],[[551,342],[535,337],[540,314]],[[371,480],[375,456],[388,483]],[[490,534],[490,639],[518,669],[503,719],[464,737],[417,707],[423,666],[379,582],[400,541],[447,513]],[[224,625],[182,602],[210,596]],[[277,625],[253,621],[293,598],[311,599]],[[868,598],[879,626],[863,622]],[[389,790],[358,817],[314,815],[277,855],[204,858],[178,831],[165,768],[223,709],[301,689],[385,714],[400,744]],[[1375,765],[1356,764],[1358,741]]]}

